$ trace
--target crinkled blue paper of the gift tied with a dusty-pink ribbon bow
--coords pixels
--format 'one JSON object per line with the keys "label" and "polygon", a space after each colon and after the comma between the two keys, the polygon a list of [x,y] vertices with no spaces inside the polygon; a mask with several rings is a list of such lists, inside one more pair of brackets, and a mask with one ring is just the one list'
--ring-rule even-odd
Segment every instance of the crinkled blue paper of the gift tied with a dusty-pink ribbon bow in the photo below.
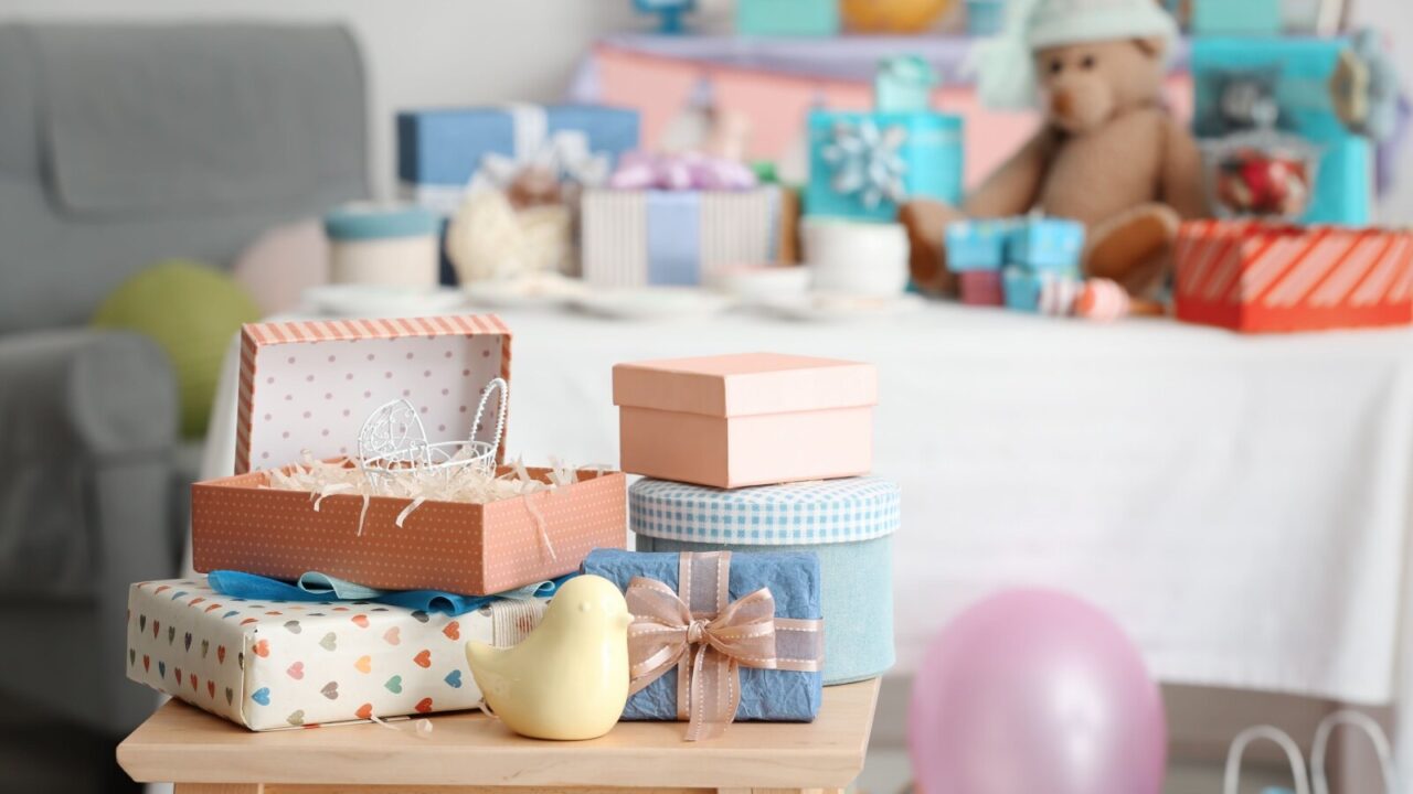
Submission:
{"label": "crinkled blue paper of the gift tied with a dusty-pink ribbon bow", "polygon": [[[643,554],[595,550],[584,561],[585,574],[596,574],[627,589],[636,576],[656,579],[678,592],[678,554]],[[728,599],[739,600],[769,588],[777,617],[818,620],[820,559],[808,552],[732,554]],[[697,606],[694,603],[694,606]],[[825,626],[828,632],[828,626]],[[790,670],[740,668],[740,705],[736,721],[810,722],[820,713],[822,675]],[[677,719],[677,670],[629,698],[623,719]]]}

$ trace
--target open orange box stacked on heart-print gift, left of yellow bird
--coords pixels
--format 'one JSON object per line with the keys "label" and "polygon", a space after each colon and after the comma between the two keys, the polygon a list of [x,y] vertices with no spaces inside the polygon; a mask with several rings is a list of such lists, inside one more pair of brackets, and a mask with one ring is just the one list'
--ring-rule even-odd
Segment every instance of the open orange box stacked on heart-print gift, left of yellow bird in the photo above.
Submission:
{"label": "open orange box stacked on heart-print gift, left of yellow bird", "polygon": [[466,641],[517,643],[545,609],[533,596],[623,545],[623,475],[550,487],[531,468],[534,493],[411,510],[274,479],[355,455],[365,420],[398,400],[432,441],[475,435],[500,461],[495,401],[485,421],[476,407],[510,381],[510,339],[493,316],[247,325],[239,473],[192,489],[209,576],[131,586],[129,677],[254,730],[475,706]]}

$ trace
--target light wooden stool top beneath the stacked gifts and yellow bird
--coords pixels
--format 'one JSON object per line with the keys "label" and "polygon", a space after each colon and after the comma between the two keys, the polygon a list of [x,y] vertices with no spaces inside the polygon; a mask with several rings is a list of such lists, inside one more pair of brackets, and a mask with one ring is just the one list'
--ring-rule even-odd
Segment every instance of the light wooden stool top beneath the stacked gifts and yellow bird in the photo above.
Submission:
{"label": "light wooden stool top beneath the stacked gifts and yellow bird", "polygon": [[187,704],[157,709],[117,747],[133,780],[178,794],[839,793],[868,750],[879,682],[824,691],[808,725],[740,722],[682,742],[680,722],[622,722],[591,742],[537,742],[476,712],[254,733]]}

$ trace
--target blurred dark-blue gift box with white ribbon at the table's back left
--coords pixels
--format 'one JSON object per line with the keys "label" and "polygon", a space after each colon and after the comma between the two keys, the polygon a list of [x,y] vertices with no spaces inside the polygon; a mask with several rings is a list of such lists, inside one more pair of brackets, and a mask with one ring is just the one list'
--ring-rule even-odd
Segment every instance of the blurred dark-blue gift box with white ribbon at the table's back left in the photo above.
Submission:
{"label": "blurred dark-blue gift box with white ribbon at the table's back left", "polygon": [[599,184],[639,146],[636,110],[592,105],[500,105],[397,114],[397,178],[404,198],[455,212],[473,179],[509,181],[527,164]]}

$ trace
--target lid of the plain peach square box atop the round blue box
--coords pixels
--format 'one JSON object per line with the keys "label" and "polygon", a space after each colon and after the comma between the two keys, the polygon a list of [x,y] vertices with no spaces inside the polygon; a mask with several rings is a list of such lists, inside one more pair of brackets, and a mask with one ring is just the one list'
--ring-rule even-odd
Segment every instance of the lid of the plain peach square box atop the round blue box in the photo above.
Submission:
{"label": "lid of the plain peach square box atop the round blue box", "polygon": [[709,417],[749,417],[877,404],[873,365],[738,353],[613,367],[613,404]]}

